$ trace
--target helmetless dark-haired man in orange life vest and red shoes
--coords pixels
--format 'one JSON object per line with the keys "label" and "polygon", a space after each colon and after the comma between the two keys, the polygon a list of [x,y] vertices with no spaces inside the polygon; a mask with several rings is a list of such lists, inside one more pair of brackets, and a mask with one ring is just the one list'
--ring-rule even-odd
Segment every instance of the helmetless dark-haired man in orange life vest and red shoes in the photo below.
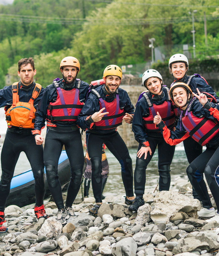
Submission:
{"label": "helmetless dark-haired man in orange life vest and red shoes", "polygon": [[18,62],[20,82],[0,90],[0,107],[5,107],[8,124],[1,151],[0,232],[7,231],[7,228],[2,226],[5,222],[5,204],[10,192],[14,168],[22,151],[30,162],[35,179],[35,215],[37,218],[48,217],[43,205],[45,194],[43,147],[36,145],[35,138],[31,134],[34,128],[35,108],[44,90],[40,84],[33,82],[35,74],[33,59],[21,59]]}

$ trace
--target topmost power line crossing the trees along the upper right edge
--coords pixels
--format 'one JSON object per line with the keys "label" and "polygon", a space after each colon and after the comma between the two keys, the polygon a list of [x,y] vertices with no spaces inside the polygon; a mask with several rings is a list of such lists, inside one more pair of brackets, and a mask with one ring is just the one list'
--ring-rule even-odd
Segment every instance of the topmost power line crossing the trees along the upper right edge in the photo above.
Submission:
{"label": "topmost power line crossing the trees along the upper right edge", "polygon": [[[100,3],[112,3],[110,0],[84,0],[89,2],[100,2]],[[120,2],[116,1],[115,3],[124,4],[124,5],[146,5],[146,6],[166,6],[166,7],[189,7],[189,8],[217,8],[217,5],[170,5],[170,4],[153,4],[153,3],[136,3],[136,2]]]}

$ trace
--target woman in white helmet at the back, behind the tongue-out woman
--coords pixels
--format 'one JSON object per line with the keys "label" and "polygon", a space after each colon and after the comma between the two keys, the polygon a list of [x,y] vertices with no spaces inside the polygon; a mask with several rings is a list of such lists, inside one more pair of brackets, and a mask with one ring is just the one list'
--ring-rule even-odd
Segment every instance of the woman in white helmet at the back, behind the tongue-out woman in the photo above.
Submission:
{"label": "woman in white helmet at the back, behind the tongue-out woman", "polygon": [[[219,103],[219,98],[216,96],[214,90],[209,86],[204,78],[202,78],[199,74],[194,74],[192,76],[188,76],[187,72],[189,69],[188,58],[181,54],[177,53],[170,57],[169,59],[169,73],[174,77],[174,82],[183,82],[187,84],[194,93],[197,93],[196,88],[199,91],[204,91],[213,95],[217,103]],[[172,86],[171,85],[171,86]],[[196,157],[198,157],[202,153],[202,146],[199,145],[196,141],[192,140],[192,138],[187,138],[183,141],[184,149],[186,153],[186,157],[189,163],[192,163]],[[199,199],[197,193],[193,190],[194,198]],[[204,212],[200,213],[204,214]],[[202,215],[199,215],[200,217]],[[202,217],[205,217],[204,215]]]}

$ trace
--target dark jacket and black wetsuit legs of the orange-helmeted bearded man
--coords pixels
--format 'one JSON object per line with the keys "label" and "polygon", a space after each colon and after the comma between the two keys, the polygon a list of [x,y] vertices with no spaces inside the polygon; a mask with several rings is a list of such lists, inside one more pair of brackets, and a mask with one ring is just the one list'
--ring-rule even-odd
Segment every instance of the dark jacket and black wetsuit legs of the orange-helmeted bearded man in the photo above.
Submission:
{"label": "dark jacket and black wetsuit legs of the orange-helmeted bearded man", "polygon": [[[76,88],[78,80],[72,86],[68,86],[62,79],[57,81],[60,88],[70,91]],[[80,81],[79,101],[83,103],[86,98],[89,85]],[[67,92],[65,92],[67,94]],[[47,120],[47,109],[50,103],[57,101],[57,90],[53,84],[46,87],[42,100],[38,105],[36,113],[34,134],[40,134],[40,130],[45,126]],[[72,99],[73,104],[73,99]],[[66,118],[65,118],[66,119]],[[65,145],[66,154],[68,156],[71,167],[71,178],[68,185],[68,193],[66,198],[66,207],[71,207],[81,186],[83,174],[84,155],[81,134],[75,121],[50,121],[47,122],[47,133],[44,145],[44,163],[46,167],[46,177],[49,184],[50,192],[58,209],[64,208],[62,198],[62,188],[58,176],[58,161],[61,155],[63,145]]]}

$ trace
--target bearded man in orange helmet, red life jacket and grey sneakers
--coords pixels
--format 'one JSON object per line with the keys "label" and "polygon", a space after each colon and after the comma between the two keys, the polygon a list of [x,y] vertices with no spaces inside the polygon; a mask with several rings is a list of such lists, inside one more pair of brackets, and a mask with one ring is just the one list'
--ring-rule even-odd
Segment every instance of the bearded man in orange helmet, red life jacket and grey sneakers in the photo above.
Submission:
{"label": "bearded man in orange helmet, red life jacket and grey sneakers", "polygon": [[[57,205],[57,220],[62,224],[74,216],[72,204],[81,186],[84,165],[83,145],[77,116],[85,102],[89,85],[76,79],[80,63],[75,57],[65,57],[60,63],[62,79],[55,79],[46,87],[42,100],[38,104],[36,120],[32,132],[37,145],[43,143],[40,131],[47,121],[47,133],[44,145],[44,164],[50,192]],[[71,179],[64,206],[62,188],[58,176],[58,160],[61,150],[65,150],[71,166]]]}

